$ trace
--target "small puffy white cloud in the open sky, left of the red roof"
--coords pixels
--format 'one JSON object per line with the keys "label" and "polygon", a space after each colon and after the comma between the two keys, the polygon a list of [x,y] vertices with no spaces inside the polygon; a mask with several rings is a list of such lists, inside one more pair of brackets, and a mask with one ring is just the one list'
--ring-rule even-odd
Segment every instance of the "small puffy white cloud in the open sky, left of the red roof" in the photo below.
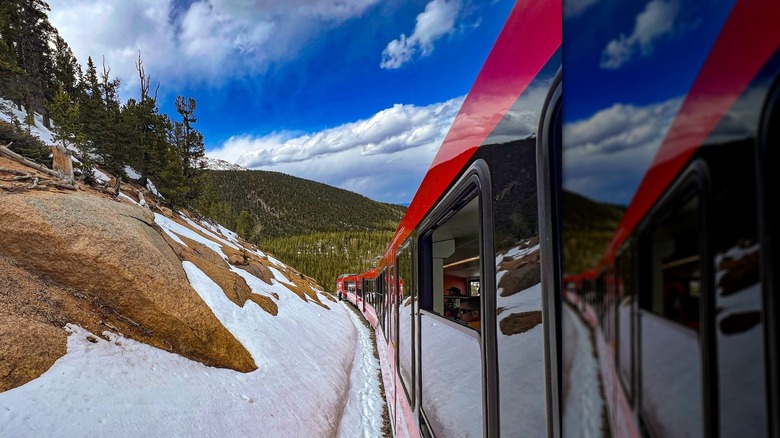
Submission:
{"label": "small puffy white cloud in the open sky, left of the red roof", "polygon": [[415,55],[425,57],[433,52],[433,42],[455,29],[455,19],[460,10],[459,0],[432,0],[417,16],[417,24],[410,36],[401,34],[387,43],[382,51],[380,67],[395,69],[410,61]]}

